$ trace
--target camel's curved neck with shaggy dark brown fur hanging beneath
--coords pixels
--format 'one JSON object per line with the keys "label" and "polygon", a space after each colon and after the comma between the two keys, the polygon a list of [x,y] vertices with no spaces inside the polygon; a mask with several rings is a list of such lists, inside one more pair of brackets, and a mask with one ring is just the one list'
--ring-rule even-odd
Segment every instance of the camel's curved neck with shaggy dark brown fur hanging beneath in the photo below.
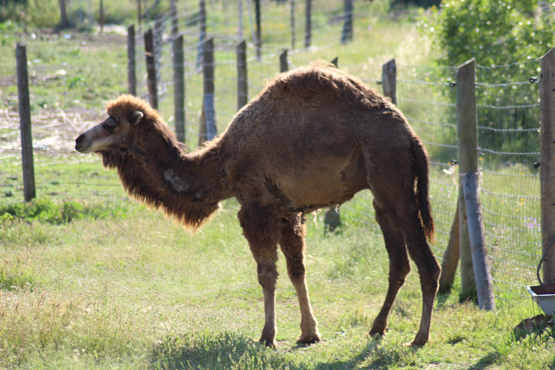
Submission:
{"label": "camel's curved neck with shaggy dark brown fur hanging beneath", "polygon": [[191,154],[159,120],[147,119],[127,150],[101,152],[129,196],[196,230],[219,208],[221,160],[213,144]]}

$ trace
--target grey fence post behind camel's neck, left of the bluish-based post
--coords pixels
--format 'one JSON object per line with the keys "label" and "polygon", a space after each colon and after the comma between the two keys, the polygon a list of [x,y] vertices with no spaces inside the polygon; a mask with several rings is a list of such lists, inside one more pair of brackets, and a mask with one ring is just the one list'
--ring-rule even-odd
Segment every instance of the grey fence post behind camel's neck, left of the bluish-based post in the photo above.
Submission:
{"label": "grey fence post behind camel's neck, left of the bluish-based post", "polygon": [[173,40],[175,134],[185,143],[185,66],[183,35]]}

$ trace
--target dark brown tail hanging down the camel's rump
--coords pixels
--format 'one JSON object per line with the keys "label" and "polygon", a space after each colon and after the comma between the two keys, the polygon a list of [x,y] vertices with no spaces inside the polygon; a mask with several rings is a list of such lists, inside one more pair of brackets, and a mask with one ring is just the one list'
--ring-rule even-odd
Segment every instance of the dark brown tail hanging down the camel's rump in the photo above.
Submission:
{"label": "dark brown tail hanging down the camel's rump", "polygon": [[418,210],[420,211],[424,233],[428,240],[432,241],[435,236],[435,229],[433,227],[430,197],[428,197],[428,192],[430,190],[428,186],[428,155],[418,138],[414,139],[411,151],[416,161],[416,201],[418,202]]}

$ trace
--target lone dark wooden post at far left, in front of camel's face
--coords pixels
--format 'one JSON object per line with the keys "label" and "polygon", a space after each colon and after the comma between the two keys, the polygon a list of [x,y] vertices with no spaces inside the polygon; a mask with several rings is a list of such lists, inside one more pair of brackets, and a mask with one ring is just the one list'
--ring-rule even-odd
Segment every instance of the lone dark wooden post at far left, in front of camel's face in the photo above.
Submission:
{"label": "lone dark wooden post at far left, in front of camel's face", "polygon": [[19,130],[21,131],[21,164],[23,167],[23,197],[28,202],[36,196],[36,192],[34,184],[33,139],[31,136],[29,75],[27,72],[27,46],[25,44],[17,43],[16,63]]}

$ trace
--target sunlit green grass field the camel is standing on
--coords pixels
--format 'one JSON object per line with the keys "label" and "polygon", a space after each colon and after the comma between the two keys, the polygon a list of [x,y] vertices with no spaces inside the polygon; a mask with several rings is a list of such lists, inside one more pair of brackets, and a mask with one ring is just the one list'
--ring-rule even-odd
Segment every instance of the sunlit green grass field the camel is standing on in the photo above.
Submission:
{"label": "sunlit green grass field the camel is standing on", "polygon": [[[369,7],[381,3],[375,0]],[[221,13],[224,2],[211,4]],[[273,11],[278,6],[283,7],[276,5]],[[290,54],[291,66],[339,55],[340,68],[372,84],[379,71],[371,70],[371,65],[390,57],[399,65],[433,64],[431,40],[416,33],[410,14],[393,17],[383,9],[369,9],[377,15],[355,19],[354,42],[328,42],[327,38],[340,32],[339,24],[331,25],[326,28],[329,33],[315,40],[315,48]],[[225,24],[225,18],[222,21]],[[279,31],[280,24],[274,26]],[[75,136],[102,119],[103,102],[127,91],[125,36],[56,34],[44,29],[24,33],[6,24],[2,30],[0,38],[6,42],[0,42],[0,190],[5,195],[0,198],[0,368],[555,368],[551,327],[516,336],[512,332],[523,318],[539,313],[529,298],[498,300],[496,313],[480,312],[473,303],[459,303],[458,277],[450,295],[437,297],[430,342],[420,349],[403,347],[415,335],[420,320],[420,282],[414,266],[393,306],[387,336],[381,341],[368,338],[385,297],[388,273],[382,236],[375,224],[367,225],[373,222],[369,192],[357,195],[341,209],[345,224],[341,234],[324,235],[322,214],[307,221],[307,279],[324,341],[296,345],[299,308],[294,288],[282,275],[276,298],[278,348],[260,346],[255,341],[264,321],[264,305],[256,265],[236,219],[236,201],[225,201],[210,224],[191,235],[158,212],[129,200],[117,176],[104,170],[98,158],[72,151]],[[37,149],[38,199],[26,206],[15,129],[13,44],[17,40],[28,45]],[[216,78],[220,78],[216,109],[221,132],[236,110],[235,80],[229,77],[234,76],[235,54],[233,43],[216,45],[220,48],[216,53],[220,63],[216,65]],[[265,78],[278,72],[276,50],[265,50],[259,63],[250,48],[250,97]],[[165,53],[163,58],[167,80],[170,55]],[[189,54],[188,65],[194,60],[195,54]],[[194,148],[201,74],[191,69],[188,73],[188,145]],[[171,91],[168,84],[160,105],[170,126]],[[418,97],[422,91],[411,94]],[[447,114],[437,106],[423,110],[419,103],[400,104],[416,121],[441,120]],[[423,139],[452,144],[453,128],[414,125]],[[441,157],[442,163],[453,155],[434,150],[431,153]],[[431,171],[434,216],[444,233],[438,234],[434,246],[438,256],[445,248],[455,197],[452,175],[443,169],[450,168],[434,165]],[[485,189],[496,194],[483,200],[488,202],[487,210],[518,216],[538,213],[533,199],[523,198],[517,204],[517,199],[506,196],[536,194],[536,173],[529,166],[503,167],[499,160],[488,169],[483,175]],[[523,177],[519,182],[510,180],[515,175]],[[519,246],[534,247],[538,236],[521,230],[526,229],[521,218],[489,220],[494,225],[487,226],[492,234],[488,240],[495,246],[499,242],[506,247],[517,237],[524,241]],[[532,275],[533,271],[518,270],[521,261],[511,261],[513,255],[502,254],[495,257],[504,259],[503,271]],[[285,272],[283,259],[278,270]]]}

